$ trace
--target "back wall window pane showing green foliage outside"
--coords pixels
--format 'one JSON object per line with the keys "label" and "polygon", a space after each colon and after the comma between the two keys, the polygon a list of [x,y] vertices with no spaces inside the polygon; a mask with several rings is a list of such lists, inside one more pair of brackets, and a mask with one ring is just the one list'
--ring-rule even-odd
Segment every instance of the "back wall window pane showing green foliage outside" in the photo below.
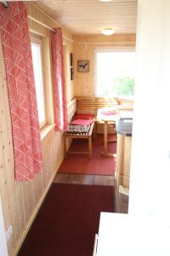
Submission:
{"label": "back wall window pane showing green foliage outside", "polygon": [[97,49],[95,59],[95,96],[133,96],[135,52],[132,49]]}

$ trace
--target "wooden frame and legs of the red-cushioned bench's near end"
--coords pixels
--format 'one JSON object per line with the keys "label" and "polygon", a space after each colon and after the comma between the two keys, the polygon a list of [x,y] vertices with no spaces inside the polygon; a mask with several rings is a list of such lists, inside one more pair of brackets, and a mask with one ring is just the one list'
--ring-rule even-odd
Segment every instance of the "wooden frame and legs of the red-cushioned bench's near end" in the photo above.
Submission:
{"label": "wooden frame and legs of the red-cushioned bench's near end", "polygon": [[[88,132],[82,132],[82,133],[72,133],[69,131],[65,131],[64,133],[64,149],[65,149],[65,157],[67,154],[88,154],[89,159],[92,158],[92,134],[94,130],[94,122],[90,125]],[[67,151],[66,149],[66,139],[88,139],[88,151]]]}

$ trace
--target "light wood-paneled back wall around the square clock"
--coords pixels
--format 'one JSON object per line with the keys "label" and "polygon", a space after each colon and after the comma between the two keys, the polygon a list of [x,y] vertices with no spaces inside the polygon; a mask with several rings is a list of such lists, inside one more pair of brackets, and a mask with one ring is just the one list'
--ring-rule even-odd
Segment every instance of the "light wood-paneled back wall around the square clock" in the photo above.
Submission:
{"label": "light wood-paneled back wall around the square clock", "polygon": [[[94,50],[96,48],[123,48],[135,47],[135,34],[115,34],[111,37],[87,36],[74,37],[74,59],[75,59],[75,95],[94,96]],[[89,61],[89,73],[77,72],[77,61]]]}

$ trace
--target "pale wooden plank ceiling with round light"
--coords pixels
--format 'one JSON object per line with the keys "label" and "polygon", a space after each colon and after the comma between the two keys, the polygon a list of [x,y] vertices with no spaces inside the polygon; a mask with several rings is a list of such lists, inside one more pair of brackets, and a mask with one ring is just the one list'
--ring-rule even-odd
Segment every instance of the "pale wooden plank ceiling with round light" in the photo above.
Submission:
{"label": "pale wooden plank ceiling with round light", "polygon": [[42,0],[34,2],[73,34],[99,34],[105,27],[116,33],[135,33],[137,0]]}

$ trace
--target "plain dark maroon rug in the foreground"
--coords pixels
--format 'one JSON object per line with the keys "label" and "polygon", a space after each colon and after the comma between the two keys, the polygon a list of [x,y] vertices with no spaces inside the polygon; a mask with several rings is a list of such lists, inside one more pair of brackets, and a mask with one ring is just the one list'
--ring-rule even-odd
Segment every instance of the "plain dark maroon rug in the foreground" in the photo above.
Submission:
{"label": "plain dark maroon rug in the foreground", "polygon": [[92,256],[100,212],[114,207],[113,187],[54,183],[18,256]]}

